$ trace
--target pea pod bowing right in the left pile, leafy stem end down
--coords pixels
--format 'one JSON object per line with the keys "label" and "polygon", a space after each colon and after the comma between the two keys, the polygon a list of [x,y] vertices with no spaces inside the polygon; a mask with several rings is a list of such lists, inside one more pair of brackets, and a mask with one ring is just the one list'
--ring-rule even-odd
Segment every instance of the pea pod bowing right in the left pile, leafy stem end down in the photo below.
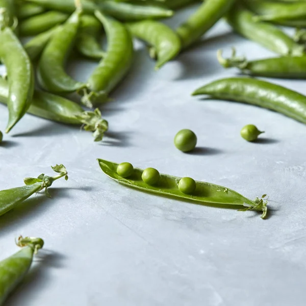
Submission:
{"label": "pea pod bowing right in the left pile, leafy stem end down", "polygon": [[81,101],[88,107],[106,99],[130,69],[133,59],[132,38],[124,25],[111,17],[105,17],[99,11],[95,15],[104,25],[108,47],[104,59],[88,79],[87,88],[80,91],[83,95]]}

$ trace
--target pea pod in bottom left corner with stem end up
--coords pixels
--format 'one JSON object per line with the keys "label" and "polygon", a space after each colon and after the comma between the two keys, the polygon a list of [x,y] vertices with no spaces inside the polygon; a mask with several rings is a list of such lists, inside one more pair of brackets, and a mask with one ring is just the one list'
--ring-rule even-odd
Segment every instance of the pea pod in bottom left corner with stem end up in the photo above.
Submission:
{"label": "pea pod in bottom left corner with stem end up", "polygon": [[0,262],[0,305],[27,274],[34,254],[43,247],[44,242],[41,238],[20,236],[16,244],[22,249]]}

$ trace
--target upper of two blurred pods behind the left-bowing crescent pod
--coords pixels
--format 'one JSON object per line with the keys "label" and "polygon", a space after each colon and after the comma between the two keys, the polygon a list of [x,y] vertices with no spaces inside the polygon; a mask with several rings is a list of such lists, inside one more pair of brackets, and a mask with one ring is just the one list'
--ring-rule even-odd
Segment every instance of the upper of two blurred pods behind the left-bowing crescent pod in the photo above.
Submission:
{"label": "upper of two blurred pods behind the left-bowing crescent pod", "polygon": [[49,11],[28,19],[21,20],[19,23],[20,36],[34,36],[54,28],[56,25],[65,22],[69,15]]}

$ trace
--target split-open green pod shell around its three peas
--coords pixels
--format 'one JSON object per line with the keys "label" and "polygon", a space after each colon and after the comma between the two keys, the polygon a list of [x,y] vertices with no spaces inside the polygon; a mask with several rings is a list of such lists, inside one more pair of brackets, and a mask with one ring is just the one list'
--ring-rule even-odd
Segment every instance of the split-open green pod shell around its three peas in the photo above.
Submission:
{"label": "split-open green pod shell around its three peas", "polygon": [[142,181],[142,172],[140,168],[134,168],[134,172],[128,178],[123,178],[118,175],[118,164],[98,159],[101,170],[114,181],[136,189],[147,192],[158,193],[160,195],[183,198],[190,201],[195,201],[203,205],[217,207],[232,207],[241,210],[254,210],[262,212],[262,218],[267,215],[267,203],[263,198],[256,198],[255,201],[247,199],[238,192],[214,185],[211,183],[195,181],[196,188],[192,194],[185,194],[179,190],[179,182],[181,177],[176,177],[168,174],[160,174],[159,183],[155,186],[149,186]]}

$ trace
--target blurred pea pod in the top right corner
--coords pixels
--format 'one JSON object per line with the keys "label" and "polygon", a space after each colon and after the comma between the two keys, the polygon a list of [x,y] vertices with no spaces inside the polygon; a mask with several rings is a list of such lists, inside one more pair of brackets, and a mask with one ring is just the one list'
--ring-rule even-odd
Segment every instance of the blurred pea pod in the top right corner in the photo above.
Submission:
{"label": "blurred pea pod in the top right corner", "polygon": [[244,1],[248,8],[259,14],[262,20],[282,20],[306,18],[306,2],[282,3],[273,1]]}

